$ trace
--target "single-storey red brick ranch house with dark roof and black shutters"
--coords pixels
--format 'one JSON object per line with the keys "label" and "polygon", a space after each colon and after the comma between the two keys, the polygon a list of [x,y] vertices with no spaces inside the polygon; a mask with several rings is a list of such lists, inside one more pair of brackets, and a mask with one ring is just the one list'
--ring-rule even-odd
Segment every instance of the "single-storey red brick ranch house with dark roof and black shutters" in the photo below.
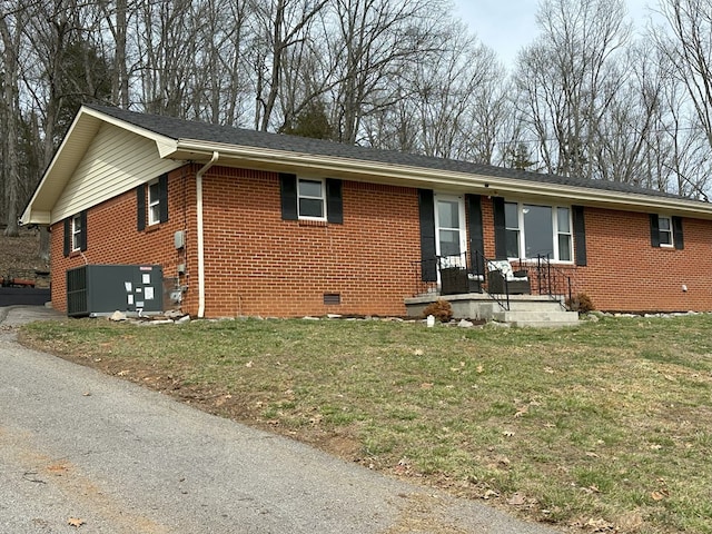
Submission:
{"label": "single-storey red brick ranch house with dark roof and black shutters", "polygon": [[157,264],[194,316],[404,315],[463,253],[546,255],[599,309],[712,310],[710,204],[117,108],[81,108],[21,221],[60,310],[70,268]]}

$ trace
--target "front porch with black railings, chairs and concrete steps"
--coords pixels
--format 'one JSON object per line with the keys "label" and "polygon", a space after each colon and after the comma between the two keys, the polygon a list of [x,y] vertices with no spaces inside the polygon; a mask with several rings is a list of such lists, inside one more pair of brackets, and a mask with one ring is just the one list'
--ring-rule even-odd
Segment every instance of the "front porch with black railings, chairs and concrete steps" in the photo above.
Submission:
{"label": "front porch with black railings, chairs and concrete steps", "polygon": [[414,270],[416,291],[405,299],[411,317],[422,317],[428,304],[442,299],[451,304],[454,318],[532,327],[578,324],[578,313],[566,307],[574,296],[573,275],[545,256],[510,263],[477,254],[468,260],[463,253],[417,261]]}

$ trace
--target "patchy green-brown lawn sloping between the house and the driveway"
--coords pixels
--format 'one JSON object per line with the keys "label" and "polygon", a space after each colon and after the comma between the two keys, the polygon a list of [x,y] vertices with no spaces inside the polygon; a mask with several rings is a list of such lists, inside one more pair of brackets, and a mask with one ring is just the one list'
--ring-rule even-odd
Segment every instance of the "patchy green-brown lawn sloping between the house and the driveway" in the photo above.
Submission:
{"label": "patchy green-brown lawn sloping between the house and the driveway", "polygon": [[22,338],[532,518],[644,534],[712,533],[710,332],[710,315],[563,330],[81,319]]}

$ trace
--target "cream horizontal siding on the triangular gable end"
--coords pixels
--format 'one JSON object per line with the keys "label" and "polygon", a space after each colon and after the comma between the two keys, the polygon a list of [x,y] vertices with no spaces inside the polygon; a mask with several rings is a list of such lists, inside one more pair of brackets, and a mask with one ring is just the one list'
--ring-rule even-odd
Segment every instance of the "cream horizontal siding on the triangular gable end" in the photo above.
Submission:
{"label": "cream horizontal siding on the triangular gable end", "polygon": [[184,165],[160,159],[156,141],[105,123],[57,199],[57,222]]}

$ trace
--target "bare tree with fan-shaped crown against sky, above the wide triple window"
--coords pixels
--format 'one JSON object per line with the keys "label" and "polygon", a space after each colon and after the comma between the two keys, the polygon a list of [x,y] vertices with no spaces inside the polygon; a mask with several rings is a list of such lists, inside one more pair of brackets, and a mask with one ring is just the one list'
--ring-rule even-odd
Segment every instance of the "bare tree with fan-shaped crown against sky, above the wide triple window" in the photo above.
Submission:
{"label": "bare tree with fan-shaped crown against sky, above the wide triple window", "polygon": [[621,0],[543,0],[537,40],[518,59],[521,109],[550,172],[593,177],[599,122],[622,83],[630,24]]}

